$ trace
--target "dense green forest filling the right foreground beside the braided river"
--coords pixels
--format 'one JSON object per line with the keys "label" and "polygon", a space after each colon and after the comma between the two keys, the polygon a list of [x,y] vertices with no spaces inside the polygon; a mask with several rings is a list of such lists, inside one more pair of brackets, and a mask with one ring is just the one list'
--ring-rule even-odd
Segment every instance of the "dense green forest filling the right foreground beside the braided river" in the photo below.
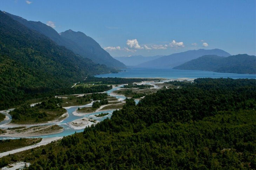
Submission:
{"label": "dense green forest filling the right foreground beside the braided river", "polygon": [[1,158],[0,165],[19,160],[31,162],[30,170],[256,169],[256,80],[199,78],[180,85],[138,105],[127,99],[111,119],[19,158]]}

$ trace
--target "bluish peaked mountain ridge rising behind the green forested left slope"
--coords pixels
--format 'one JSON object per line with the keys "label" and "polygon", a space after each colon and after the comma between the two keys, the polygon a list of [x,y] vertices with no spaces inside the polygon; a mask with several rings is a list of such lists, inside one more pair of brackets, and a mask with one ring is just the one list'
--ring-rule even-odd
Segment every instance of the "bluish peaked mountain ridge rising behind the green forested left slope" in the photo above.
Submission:
{"label": "bluish peaked mountain ridge rising behind the green forested left slope", "polygon": [[81,32],[67,30],[59,34],[52,27],[47,26],[40,21],[27,21],[20,16],[12,15],[7,12],[5,12],[5,14],[25,25],[29,29],[33,29],[49,37],[58,45],[62,45],[82,57],[89,58],[95,63],[105,64],[107,66],[116,68],[125,67],[123,63],[117,61],[112,56],[110,56],[107,51],[102,49],[100,45],[95,40],[93,40],[93,38],[86,36]]}

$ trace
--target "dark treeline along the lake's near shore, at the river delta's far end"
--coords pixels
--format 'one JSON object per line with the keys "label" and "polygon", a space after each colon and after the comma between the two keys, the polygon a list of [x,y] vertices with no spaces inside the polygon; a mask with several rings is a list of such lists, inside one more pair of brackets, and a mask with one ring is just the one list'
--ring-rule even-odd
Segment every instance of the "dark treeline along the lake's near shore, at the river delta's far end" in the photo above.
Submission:
{"label": "dark treeline along the lake's near shore, at the river delta's far end", "polygon": [[146,78],[118,78],[118,77],[94,77],[89,76],[83,83],[93,83],[93,84],[132,84],[134,82],[142,82],[147,80],[159,80],[159,79],[146,79]]}

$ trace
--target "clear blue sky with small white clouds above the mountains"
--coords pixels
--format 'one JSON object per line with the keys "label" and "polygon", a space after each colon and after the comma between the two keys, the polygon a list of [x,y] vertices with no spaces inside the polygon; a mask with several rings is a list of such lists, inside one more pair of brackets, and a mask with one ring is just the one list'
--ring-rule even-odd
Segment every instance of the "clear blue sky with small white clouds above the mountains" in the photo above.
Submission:
{"label": "clear blue sky with small white clouds above the mountains", "polygon": [[0,10],[72,29],[114,57],[222,49],[256,55],[255,0],[0,0]]}

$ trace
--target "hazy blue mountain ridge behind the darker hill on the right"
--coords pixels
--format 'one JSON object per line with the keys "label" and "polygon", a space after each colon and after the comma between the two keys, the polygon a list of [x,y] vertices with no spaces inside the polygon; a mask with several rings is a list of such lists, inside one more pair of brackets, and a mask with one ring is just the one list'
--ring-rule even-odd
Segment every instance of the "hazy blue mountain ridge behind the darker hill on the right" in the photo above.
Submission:
{"label": "hazy blue mountain ridge behind the darker hill on the right", "polygon": [[154,59],[152,61],[139,64],[137,66],[140,66],[140,67],[175,67],[175,66],[181,65],[185,62],[188,62],[191,59],[196,59],[196,58],[204,56],[204,55],[217,55],[217,56],[223,56],[223,57],[230,56],[230,54],[228,52],[225,52],[220,49],[189,50],[189,51],[185,51],[185,52],[171,54],[169,56],[163,56],[158,59]]}

